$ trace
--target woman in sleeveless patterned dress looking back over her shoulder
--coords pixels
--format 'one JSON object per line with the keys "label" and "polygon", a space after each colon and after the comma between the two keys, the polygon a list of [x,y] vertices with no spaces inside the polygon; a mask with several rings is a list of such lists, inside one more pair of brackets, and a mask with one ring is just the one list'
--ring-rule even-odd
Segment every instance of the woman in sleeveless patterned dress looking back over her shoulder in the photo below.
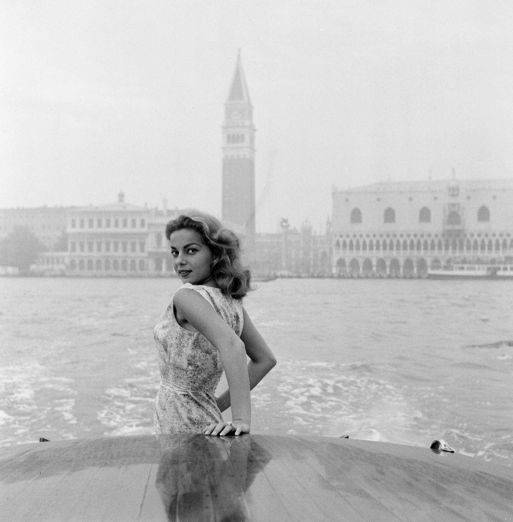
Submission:
{"label": "woman in sleeveless patterned dress looking back over her shoulder", "polygon": [[[153,330],[161,374],[154,432],[249,433],[249,390],[276,359],[242,306],[251,275],[241,265],[240,243],[198,211],[171,220],[165,235],[184,284]],[[216,398],[223,370],[229,389]],[[233,418],[224,422],[221,411],[230,406]]]}

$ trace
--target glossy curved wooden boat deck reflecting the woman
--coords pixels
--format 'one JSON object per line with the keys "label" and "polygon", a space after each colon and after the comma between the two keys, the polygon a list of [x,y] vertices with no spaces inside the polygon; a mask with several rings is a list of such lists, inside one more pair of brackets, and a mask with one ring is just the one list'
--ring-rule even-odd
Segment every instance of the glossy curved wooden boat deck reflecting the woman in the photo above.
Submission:
{"label": "glossy curved wooden boat deck reflecting the woman", "polygon": [[331,437],[161,435],[0,449],[3,520],[513,520],[513,470]]}

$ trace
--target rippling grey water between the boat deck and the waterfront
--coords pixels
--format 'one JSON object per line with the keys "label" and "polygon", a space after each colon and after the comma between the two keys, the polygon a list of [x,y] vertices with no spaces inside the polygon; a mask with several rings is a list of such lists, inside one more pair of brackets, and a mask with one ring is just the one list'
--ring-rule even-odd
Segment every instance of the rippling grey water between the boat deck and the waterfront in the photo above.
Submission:
{"label": "rippling grey water between the boat deck and the waterfront", "polygon": [[[151,432],[176,279],[0,279],[0,445]],[[252,431],[513,465],[513,282],[278,279],[245,307],[278,358]]]}

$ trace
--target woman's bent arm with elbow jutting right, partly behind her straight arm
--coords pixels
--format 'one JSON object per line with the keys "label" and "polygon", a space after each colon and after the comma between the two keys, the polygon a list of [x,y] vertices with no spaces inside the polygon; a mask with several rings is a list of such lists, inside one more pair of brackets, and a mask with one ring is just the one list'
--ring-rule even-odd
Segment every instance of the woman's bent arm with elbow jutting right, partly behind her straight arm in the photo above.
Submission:
{"label": "woman's bent arm with elbow jutting right, partly behind her straight arm", "polygon": [[[249,388],[253,389],[276,365],[276,358],[245,309],[243,309],[243,314],[244,323],[241,340],[244,342],[246,354],[249,357],[247,374],[249,377]],[[216,399],[218,408],[221,411],[230,407],[230,383],[228,383],[228,386],[229,389]]]}

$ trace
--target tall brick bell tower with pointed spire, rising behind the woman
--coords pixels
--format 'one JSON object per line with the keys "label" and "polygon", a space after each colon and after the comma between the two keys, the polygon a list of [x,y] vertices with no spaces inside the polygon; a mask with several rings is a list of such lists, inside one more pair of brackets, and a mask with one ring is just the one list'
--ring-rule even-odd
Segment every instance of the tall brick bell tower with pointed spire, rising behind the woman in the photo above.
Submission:
{"label": "tall brick bell tower with pointed spire, rising behind the woman", "polygon": [[255,127],[242,69],[241,50],[224,103],[222,125],[222,221],[241,234],[243,257],[253,264],[255,252]]}

